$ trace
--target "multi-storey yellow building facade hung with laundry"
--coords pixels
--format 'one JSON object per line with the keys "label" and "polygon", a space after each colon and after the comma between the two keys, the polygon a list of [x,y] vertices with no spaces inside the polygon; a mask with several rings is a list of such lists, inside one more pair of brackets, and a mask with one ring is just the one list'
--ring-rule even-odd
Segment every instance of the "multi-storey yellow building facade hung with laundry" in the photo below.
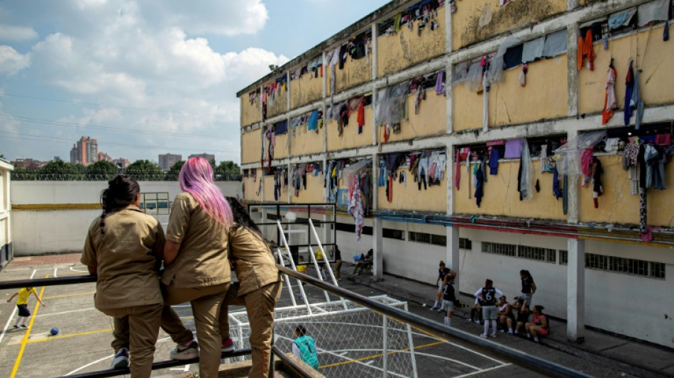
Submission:
{"label": "multi-storey yellow building facade hung with laundry", "polygon": [[392,1],[238,92],[244,198],[335,202],[377,278],[445,260],[460,291],[512,297],[526,269],[570,340],[671,348],[671,8]]}

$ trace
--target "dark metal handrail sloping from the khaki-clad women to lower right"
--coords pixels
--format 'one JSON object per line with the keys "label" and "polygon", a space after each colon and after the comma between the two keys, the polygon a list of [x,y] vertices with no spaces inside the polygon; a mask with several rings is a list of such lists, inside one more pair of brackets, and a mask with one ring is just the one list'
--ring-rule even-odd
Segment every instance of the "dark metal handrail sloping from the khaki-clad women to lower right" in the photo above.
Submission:
{"label": "dark metal handrail sloping from the khaki-clad women to lower right", "polygon": [[302,279],[302,281],[309,282],[309,284],[319,287],[320,289],[330,291],[332,294],[342,296],[343,298],[349,299],[350,301],[353,301],[357,304],[371,308],[377,312],[384,313],[385,315],[391,316],[392,318],[397,318],[399,321],[402,321],[403,323],[410,323],[414,326],[419,326],[422,328],[430,328],[432,330],[437,330],[438,332],[441,333],[452,335],[455,338],[464,340],[473,345],[478,345],[480,348],[484,348],[486,350],[490,350],[492,352],[498,353],[499,355],[507,357],[513,362],[515,362],[517,365],[521,365],[523,367],[526,367],[527,369],[531,369],[536,372],[541,372],[543,374],[553,374],[556,377],[573,377],[573,378],[592,377],[582,372],[569,369],[568,367],[564,367],[561,365],[557,365],[553,362],[543,360],[542,358],[533,355],[528,355],[524,352],[520,352],[519,350],[514,350],[505,345],[501,345],[499,343],[492,343],[491,341],[484,340],[480,337],[477,337],[476,335],[471,335],[470,333],[463,332],[463,330],[458,330],[456,328],[444,326],[441,323],[430,321],[429,319],[423,318],[414,313],[409,313],[399,308],[394,308],[391,306],[387,306],[385,304],[381,304],[380,302],[374,301],[366,296],[353,293],[352,291],[342,289],[341,287],[336,287],[334,285],[328,284],[327,282],[321,281],[320,279],[315,279],[314,277],[308,276],[306,274],[295,272],[285,267],[278,266],[278,268],[280,272],[284,274],[287,274],[291,277],[295,277],[297,279]]}

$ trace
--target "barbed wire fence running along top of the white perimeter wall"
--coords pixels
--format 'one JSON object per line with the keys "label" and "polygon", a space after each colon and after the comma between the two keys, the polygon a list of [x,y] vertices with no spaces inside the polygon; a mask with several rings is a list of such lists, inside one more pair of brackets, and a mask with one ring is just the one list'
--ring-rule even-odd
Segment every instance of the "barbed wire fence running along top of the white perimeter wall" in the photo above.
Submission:
{"label": "barbed wire fence running along top of the white perimeter wall", "polygon": [[[81,172],[81,173],[44,173],[44,172],[12,172],[15,181],[108,181],[117,174],[128,174],[138,181],[178,181],[177,173],[169,172]],[[225,173],[214,175],[215,181],[241,181],[241,174]]]}

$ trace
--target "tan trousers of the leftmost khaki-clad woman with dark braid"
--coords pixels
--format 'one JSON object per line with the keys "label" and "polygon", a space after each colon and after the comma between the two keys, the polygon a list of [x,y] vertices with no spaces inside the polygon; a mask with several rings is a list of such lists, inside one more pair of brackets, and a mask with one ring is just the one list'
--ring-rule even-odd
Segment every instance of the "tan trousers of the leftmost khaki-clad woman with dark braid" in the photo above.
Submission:
{"label": "tan trousers of the leftmost khaki-clad woman with dark braid", "polygon": [[114,317],[112,348],[128,348],[131,354],[131,378],[149,378],[155,355],[155,343],[162,319],[162,304],[109,308],[101,310]]}

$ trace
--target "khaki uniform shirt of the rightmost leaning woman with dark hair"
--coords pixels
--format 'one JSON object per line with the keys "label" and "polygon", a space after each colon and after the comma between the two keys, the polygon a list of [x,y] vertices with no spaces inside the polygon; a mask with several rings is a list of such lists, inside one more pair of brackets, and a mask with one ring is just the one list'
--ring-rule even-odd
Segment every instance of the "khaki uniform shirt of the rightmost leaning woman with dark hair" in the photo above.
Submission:
{"label": "khaki uniform shirt of the rightmost leaning woman with dark hair", "polygon": [[239,296],[281,281],[274,255],[258,233],[245,227],[232,228],[229,232],[229,251],[236,265]]}

